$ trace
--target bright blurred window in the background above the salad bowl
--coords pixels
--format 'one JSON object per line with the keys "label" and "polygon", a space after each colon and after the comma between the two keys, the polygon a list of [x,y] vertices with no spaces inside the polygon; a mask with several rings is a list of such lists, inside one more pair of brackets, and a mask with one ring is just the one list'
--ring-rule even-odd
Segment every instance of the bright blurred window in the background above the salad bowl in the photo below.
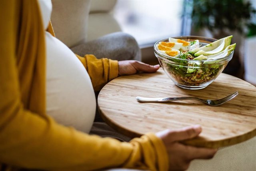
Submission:
{"label": "bright blurred window in the background above the salad bowl", "polygon": [[181,35],[183,0],[118,0],[114,17],[140,47]]}

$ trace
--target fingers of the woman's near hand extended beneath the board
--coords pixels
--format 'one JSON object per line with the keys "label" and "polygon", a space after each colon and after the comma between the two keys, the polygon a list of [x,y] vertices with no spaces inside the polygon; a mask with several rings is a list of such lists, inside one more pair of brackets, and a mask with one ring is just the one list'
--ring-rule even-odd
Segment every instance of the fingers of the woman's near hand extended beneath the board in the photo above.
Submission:
{"label": "fingers of the woman's near hand extended beneath the board", "polygon": [[186,146],[186,151],[187,159],[191,161],[193,159],[211,159],[217,152],[217,149]]}

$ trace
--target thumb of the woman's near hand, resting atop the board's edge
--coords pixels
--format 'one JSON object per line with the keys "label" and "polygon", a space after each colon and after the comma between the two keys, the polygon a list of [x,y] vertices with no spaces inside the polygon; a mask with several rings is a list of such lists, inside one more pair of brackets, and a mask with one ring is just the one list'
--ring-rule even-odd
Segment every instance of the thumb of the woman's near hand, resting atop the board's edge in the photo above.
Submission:
{"label": "thumb of the woman's near hand, resting atop the board's edge", "polygon": [[200,125],[184,127],[182,129],[177,130],[169,130],[167,135],[169,140],[168,143],[194,138],[198,134],[200,134],[201,131],[202,127]]}

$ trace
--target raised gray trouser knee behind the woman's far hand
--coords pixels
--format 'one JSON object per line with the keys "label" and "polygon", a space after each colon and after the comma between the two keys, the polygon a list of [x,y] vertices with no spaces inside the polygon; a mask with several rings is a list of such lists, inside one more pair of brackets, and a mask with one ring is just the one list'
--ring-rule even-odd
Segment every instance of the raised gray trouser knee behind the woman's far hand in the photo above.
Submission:
{"label": "raised gray trouser knee behind the woman's far hand", "polygon": [[123,32],[107,34],[96,40],[75,46],[71,50],[80,56],[93,54],[98,59],[141,61],[138,43],[131,35]]}

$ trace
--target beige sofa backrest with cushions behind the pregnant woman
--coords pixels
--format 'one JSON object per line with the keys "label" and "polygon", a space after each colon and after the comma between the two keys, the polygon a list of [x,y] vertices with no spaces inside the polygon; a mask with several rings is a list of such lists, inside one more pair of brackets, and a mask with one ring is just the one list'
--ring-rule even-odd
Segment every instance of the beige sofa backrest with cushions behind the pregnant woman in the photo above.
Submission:
{"label": "beige sofa backrest with cushions behind the pregnant woman", "polygon": [[56,37],[69,48],[105,34],[120,32],[111,11],[117,0],[52,0]]}

